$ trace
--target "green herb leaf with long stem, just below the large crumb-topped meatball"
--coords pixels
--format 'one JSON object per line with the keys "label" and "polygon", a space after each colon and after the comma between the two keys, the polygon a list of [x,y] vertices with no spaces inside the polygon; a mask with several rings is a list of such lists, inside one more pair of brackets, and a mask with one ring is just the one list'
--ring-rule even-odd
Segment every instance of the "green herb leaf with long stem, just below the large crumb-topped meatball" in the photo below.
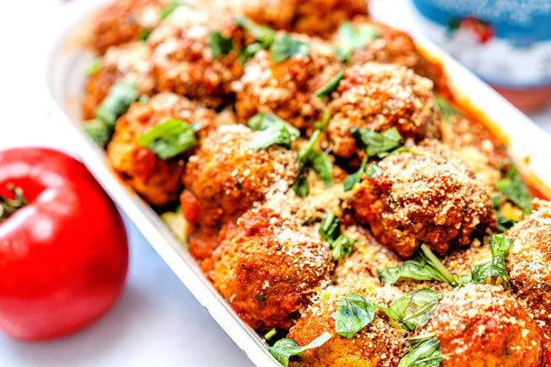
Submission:
{"label": "green herb leaf with long stem, just below the large crumb-topped meatball", "polygon": [[459,278],[451,274],[426,245],[421,245],[417,255],[410,260],[404,261],[401,266],[379,269],[377,270],[377,275],[381,283],[388,284],[394,284],[400,278],[420,281],[434,280],[454,286],[461,284]]}

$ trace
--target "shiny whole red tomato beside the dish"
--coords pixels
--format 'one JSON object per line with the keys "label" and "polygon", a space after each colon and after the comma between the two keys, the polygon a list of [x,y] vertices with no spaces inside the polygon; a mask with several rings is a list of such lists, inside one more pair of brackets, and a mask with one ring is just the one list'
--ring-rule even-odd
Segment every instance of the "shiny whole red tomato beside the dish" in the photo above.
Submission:
{"label": "shiny whole red tomato beside the dish", "polygon": [[76,332],[121,295],[121,216],[82,163],[56,150],[0,151],[0,197],[14,187],[28,204],[0,222],[0,329],[23,340]]}

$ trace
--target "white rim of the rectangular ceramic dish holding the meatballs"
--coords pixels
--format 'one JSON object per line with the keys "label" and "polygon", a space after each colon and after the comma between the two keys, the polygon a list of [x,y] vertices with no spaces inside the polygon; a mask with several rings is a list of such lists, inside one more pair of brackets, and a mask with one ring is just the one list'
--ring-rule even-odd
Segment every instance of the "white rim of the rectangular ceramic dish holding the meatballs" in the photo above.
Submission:
{"label": "white rim of the rectangular ceramic dish holding the meatballs", "polygon": [[[218,295],[195,260],[173,237],[160,217],[117,178],[103,150],[95,146],[81,129],[79,101],[85,82],[83,70],[92,59],[92,54],[76,47],[73,37],[93,9],[107,1],[79,0],[64,6],[54,20],[54,28],[45,34],[51,45],[43,63],[47,88],[55,104],[54,113],[67,122],[67,129],[73,130],[73,139],[78,141],[75,146],[86,166],[189,291],[252,362],[258,366],[276,366],[278,363],[267,352],[262,339]],[[546,132],[438,47],[419,36],[416,41],[423,50],[443,64],[459,101],[470,101],[507,136],[510,151],[516,157],[519,167],[537,177],[545,186],[544,192],[549,193],[547,188],[551,187],[551,170],[547,169],[547,159],[551,138]]]}

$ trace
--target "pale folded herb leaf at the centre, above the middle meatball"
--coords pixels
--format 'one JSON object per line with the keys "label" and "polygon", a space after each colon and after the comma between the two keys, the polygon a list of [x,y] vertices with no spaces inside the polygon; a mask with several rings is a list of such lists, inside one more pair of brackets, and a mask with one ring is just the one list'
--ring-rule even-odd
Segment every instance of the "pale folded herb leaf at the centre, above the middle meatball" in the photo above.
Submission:
{"label": "pale folded herb leaf at the centre, above the middle meatball", "polygon": [[260,112],[247,121],[252,130],[261,130],[251,141],[249,149],[262,150],[274,144],[291,148],[291,140],[300,137],[300,131],[287,121],[269,112]]}

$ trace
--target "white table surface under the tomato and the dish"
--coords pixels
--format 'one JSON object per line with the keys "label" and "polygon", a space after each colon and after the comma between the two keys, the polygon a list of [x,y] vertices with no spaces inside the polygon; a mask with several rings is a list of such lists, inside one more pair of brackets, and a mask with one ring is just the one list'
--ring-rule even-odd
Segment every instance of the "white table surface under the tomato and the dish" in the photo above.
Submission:
{"label": "white table surface under the tomato and the dish", "polygon": [[[78,1],[78,0],[77,0]],[[374,0],[372,10],[409,26],[405,0]],[[43,145],[76,151],[48,116],[35,35],[53,21],[55,0],[12,0],[0,12],[0,148]],[[551,107],[532,116],[551,132]],[[0,366],[247,366],[235,343],[127,221],[131,261],[120,301],[98,323],[48,343],[0,334]],[[1,275],[0,275],[1,276]]]}

